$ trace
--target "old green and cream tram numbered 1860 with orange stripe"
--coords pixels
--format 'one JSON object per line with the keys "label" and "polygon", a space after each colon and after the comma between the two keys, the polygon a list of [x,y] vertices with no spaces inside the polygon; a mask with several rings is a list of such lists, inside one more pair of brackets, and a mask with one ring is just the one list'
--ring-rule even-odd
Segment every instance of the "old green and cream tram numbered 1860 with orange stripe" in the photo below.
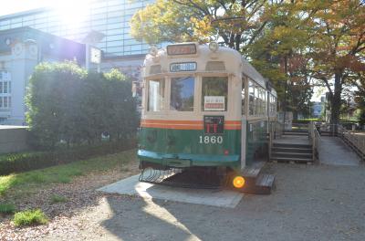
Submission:
{"label": "old green and cream tram numbered 1860 with orange stripe", "polygon": [[266,151],[276,91],[240,53],[197,43],[152,48],[143,68],[140,167],[241,172]]}

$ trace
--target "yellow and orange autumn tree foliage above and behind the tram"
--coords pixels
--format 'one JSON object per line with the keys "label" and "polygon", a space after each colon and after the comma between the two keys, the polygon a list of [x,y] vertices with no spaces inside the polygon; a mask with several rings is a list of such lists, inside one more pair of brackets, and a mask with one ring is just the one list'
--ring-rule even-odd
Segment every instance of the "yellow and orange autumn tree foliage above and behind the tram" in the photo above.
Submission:
{"label": "yellow and orange autumn tree foliage above and behind the tram", "polygon": [[[328,88],[331,122],[339,123],[343,85],[364,62],[364,7],[360,0],[158,0],[132,17],[131,28],[150,44],[215,40],[235,48],[292,110],[307,109],[318,79]],[[291,68],[296,59],[304,61]]]}

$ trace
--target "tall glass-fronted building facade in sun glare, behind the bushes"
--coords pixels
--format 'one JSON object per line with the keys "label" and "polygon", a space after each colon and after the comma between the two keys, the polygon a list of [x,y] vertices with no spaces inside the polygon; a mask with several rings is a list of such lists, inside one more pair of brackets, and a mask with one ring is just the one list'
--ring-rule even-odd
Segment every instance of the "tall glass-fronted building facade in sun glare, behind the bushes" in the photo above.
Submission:
{"label": "tall glass-fronted building facade in sun glare, behind the bushes", "polygon": [[[105,37],[95,46],[104,52],[104,58],[143,55],[149,45],[130,36],[130,19],[139,9],[154,0],[93,0],[80,11],[78,22],[68,22],[53,9],[37,9],[11,16],[0,16],[0,30],[30,26],[38,30],[82,42],[90,31]],[[72,6],[70,6],[72,7]],[[66,21],[65,21],[66,20]]]}

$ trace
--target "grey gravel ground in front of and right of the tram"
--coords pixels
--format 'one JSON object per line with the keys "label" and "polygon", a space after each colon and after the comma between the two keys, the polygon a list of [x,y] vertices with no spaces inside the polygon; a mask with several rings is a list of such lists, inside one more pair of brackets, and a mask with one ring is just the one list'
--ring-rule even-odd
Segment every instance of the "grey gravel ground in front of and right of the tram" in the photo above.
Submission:
{"label": "grey gravel ground in front of and right of the tram", "polygon": [[2,225],[0,240],[364,240],[364,165],[272,163],[268,169],[276,174],[276,191],[246,194],[235,209],[102,195],[90,185],[89,204],[65,204],[71,215],[56,209],[49,225]]}

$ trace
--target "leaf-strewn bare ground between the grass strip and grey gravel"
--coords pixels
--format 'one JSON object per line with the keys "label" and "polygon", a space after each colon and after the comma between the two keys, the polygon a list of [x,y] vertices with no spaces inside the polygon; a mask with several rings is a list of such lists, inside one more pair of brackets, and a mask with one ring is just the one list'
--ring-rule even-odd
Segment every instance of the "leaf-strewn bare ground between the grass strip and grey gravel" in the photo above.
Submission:
{"label": "leaf-strewn bare ground between the grass strip and grey gravel", "polygon": [[[96,191],[97,188],[140,172],[137,162],[125,164],[123,171],[123,173],[116,170],[108,173],[89,173],[76,178],[72,183],[52,184],[36,194],[16,200],[17,210],[40,208],[49,217],[50,222],[47,225],[18,228],[11,222],[12,215],[0,215],[0,241],[41,240],[44,236],[55,232],[76,233],[89,225],[82,219],[82,214],[88,212],[90,208],[98,207],[100,200],[103,199],[102,194]],[[55,194],[66,197],[67,202],[52,204],[51,196]]]}

